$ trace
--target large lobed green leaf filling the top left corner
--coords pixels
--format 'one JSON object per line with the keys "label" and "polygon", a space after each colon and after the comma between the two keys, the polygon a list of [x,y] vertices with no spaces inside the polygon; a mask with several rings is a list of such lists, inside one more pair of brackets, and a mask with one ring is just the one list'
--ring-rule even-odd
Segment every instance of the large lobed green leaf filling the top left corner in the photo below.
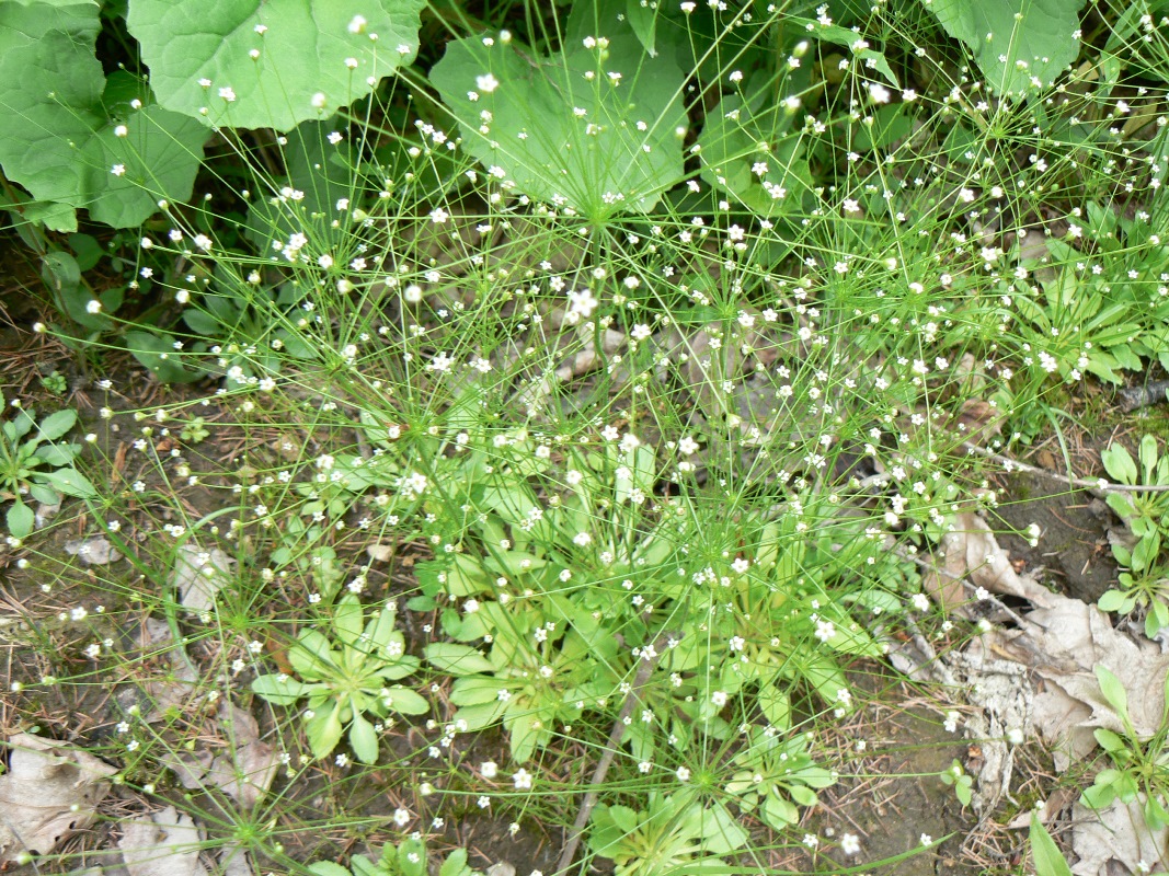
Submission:
{"label": "large lobed green leaf filling the top left corner", "polygon": [[[37,33],[32,13],[60,27]],[[95,220],[125,228],[155,213],[160,199],[189,196],[207,132],[148,95],[140,109],[111,116],[96,34],[96,7],[0,6],[0,78],[8,84],[0,112],[12,121],[0,138],[0,165],[37,201],[88,208]],[[76,229],[71,210],[46,216],[56,230]]]}

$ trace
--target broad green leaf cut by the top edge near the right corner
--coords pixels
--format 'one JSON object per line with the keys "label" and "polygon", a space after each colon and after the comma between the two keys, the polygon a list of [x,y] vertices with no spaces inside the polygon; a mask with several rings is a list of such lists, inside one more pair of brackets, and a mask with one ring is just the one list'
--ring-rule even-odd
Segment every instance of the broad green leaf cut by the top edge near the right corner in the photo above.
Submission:
{"label": "broad green leaf cut by the top edge near the right corner", "polygon": [[974,54],[987,84],[998,92],[1043,88],[1075,61],[1084,0],[922,0],[946,33]]}

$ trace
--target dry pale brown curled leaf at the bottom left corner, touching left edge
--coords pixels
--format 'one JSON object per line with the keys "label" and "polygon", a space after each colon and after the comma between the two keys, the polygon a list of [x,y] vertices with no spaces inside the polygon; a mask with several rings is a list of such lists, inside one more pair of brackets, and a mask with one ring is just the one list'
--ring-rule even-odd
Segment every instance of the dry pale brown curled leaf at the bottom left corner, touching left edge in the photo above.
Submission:
{"label": "dry pale brown curled leaf at the bottom left corner, touching left edge", "polygon": [[0,863],[32,851],[48,854],[69,834],[94,823],[117,770],[63,742],[16,734],[8,772],[0,776]]}

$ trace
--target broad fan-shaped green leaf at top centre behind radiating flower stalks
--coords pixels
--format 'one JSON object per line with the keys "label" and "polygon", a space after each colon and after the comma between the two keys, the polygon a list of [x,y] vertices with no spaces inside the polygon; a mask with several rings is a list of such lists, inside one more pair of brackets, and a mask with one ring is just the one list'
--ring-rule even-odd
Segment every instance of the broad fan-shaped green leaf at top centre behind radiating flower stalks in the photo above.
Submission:
{"label": "broad fan-shaped green leaf at top centre behind radiating flower stalks", "polygon": [[616,15],[599,30],[552,56],[458,40],[430,74],[491,175],[595,222],[653,208],[683,176],[686,130],[676,62],[650,57]]}

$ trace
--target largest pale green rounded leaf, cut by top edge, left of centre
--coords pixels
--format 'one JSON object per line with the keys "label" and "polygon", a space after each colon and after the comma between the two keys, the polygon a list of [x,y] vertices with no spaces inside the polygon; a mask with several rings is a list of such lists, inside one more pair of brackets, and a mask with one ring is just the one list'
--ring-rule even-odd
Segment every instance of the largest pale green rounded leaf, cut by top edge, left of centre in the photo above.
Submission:
{"label": "largest pale green rounded leaf, cut by top edge, left of centre", "polygon": [[[126,23],[166,109],[205,125],[291,131],[348,106],[411,63],[423,6],[423,0],[133,0]],[[253,50],[260,53],[255,60]],[[346,65],[348,58],[355,68]],[[234,100],[220,95],[223,88]]]}

